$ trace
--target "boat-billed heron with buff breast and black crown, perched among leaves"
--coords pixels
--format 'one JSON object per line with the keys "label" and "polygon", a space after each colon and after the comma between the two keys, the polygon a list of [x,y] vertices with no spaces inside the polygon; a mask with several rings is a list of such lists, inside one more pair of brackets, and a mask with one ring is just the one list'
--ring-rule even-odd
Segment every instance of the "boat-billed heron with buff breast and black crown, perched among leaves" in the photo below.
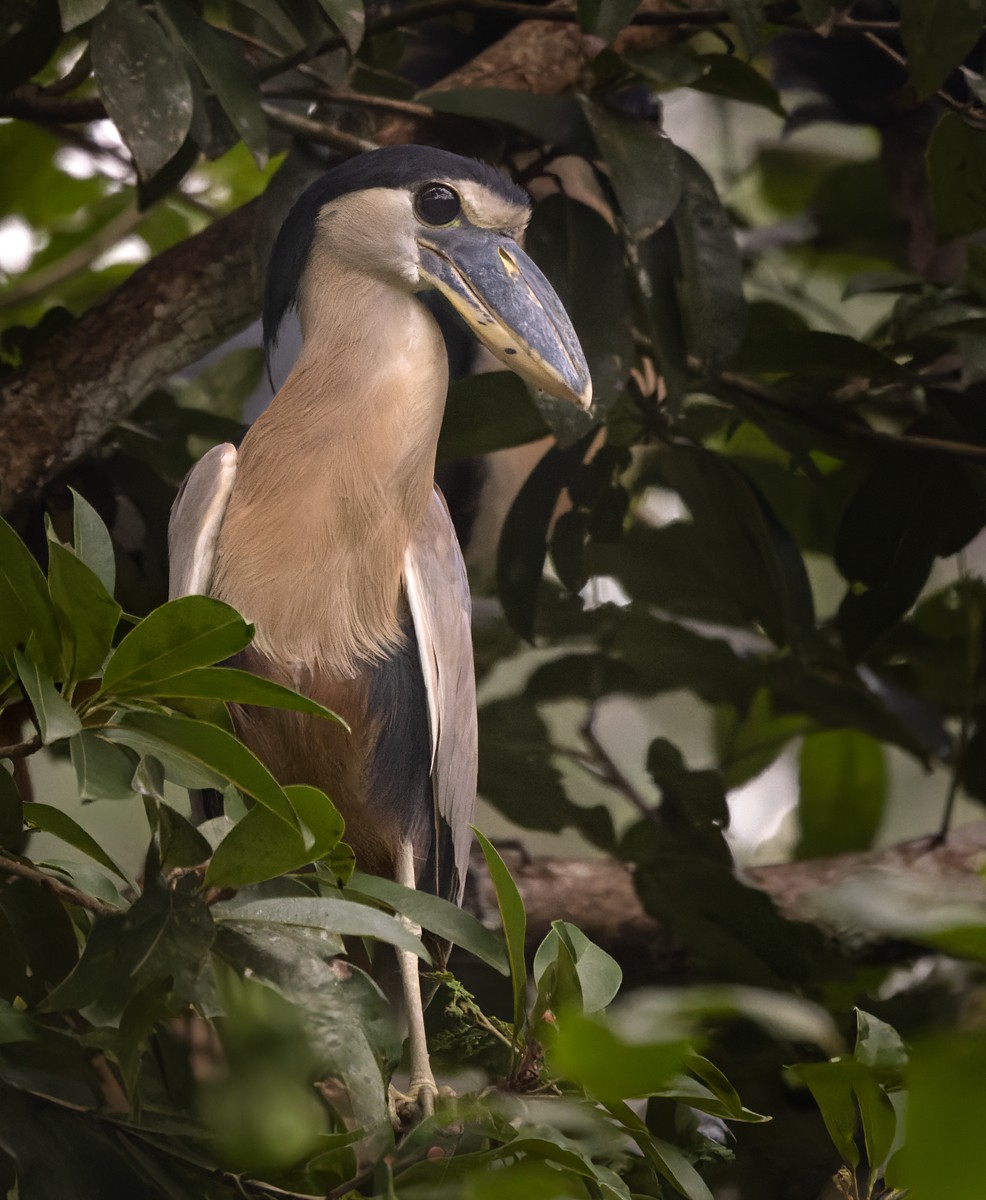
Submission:
{"label": "boat-billed heron with buff breast and black crown, perched among leaves", "polygon": [[[445,348],[435,289],[524,379],[585,406],[591,384],[551,284],[518,246],[528,198],[492,167],[393,146],[335,167],[271,253],[267,350],[296,308],[302,348],[239,450],[210,450],[172,514],[173,595],[255,625],[239,665],[348,721],[239,708],[284,784],[323,788],[363,870],[461,902],[476,793],[469,588],[433,481]],[[410,1090],[433,1110],[417,960],[399,952]]]}

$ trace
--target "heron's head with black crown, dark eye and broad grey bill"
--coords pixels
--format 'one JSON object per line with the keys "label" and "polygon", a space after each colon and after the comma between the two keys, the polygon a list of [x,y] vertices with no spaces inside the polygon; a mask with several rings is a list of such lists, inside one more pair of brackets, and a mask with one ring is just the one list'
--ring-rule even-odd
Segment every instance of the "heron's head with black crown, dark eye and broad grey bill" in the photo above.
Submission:
{"label": "heron's head with black crown, dark eye and broad grey bill", "polygon": [[297,304],[302,277],[327,258],[407,292],[437,290],[523,379],[588,407],[589,367],[571,320],[518,245],[529,217],[527,194],[473,158],[428,146],[350,158],[302,193],[278,234],[265,346]]}

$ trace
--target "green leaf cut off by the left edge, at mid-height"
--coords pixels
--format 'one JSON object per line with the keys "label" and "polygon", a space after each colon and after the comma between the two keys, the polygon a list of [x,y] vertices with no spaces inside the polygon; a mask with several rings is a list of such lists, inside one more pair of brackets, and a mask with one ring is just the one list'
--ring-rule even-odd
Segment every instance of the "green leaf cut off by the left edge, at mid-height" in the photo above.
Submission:
{"label": "green leaf cut off by the left edge, at mid-height", "polygon": [[61,635],[48,584],[31,552],[0,517],[0,655],[8,660],[16,646],[47,667],[61,670]]}

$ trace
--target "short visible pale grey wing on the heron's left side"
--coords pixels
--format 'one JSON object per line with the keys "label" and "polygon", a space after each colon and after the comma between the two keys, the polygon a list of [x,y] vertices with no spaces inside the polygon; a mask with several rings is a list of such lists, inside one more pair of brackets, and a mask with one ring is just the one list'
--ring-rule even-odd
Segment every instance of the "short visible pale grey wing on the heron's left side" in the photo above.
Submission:
{"label": "short visible pale grey wing on the heron's left side", "polygon": [[168,522],[168,598],[208,595],[229,493],[236,448],[229,442],[202,456],[185,476]]}

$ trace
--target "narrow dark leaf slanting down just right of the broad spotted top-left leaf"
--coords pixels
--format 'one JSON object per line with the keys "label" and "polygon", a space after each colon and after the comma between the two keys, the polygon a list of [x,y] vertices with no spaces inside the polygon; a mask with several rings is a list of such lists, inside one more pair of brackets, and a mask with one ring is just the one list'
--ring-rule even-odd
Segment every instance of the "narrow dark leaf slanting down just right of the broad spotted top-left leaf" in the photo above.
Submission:
{"label": "narrow dark leaf slanting down just right of the broad spotted top-left leaf", "polygon": [[[354,2],[356,0],[350,0]],[[267,122],[260,107],[258,82],[239,43],[204,22],[182,0],[157,0],[157,5],[188,48],[257,166],[263,167],[267,161]]]}

